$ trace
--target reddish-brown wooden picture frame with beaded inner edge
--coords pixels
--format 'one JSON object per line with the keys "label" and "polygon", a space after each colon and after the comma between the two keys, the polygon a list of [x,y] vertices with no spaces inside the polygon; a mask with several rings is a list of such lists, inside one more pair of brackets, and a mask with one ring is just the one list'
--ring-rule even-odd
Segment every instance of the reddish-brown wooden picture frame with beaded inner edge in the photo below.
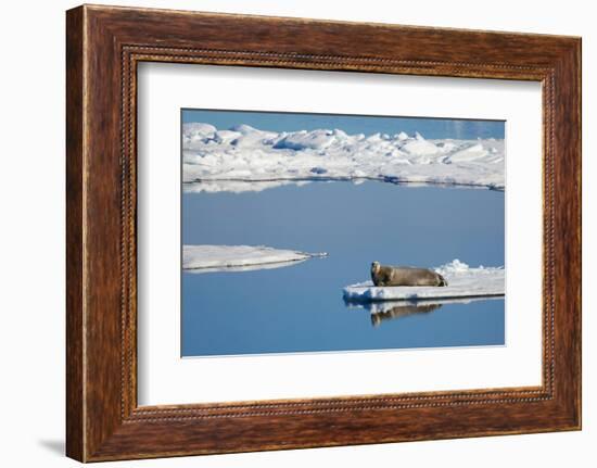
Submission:
{"label": "reddish-brown wooden picture frame with beaded inner edge", "polygon": [[[581,428],[580,38],[89,5],[66,20],[69,457]],[[543,384],[138,406],[136,71],[143,61],[541,81]]]}

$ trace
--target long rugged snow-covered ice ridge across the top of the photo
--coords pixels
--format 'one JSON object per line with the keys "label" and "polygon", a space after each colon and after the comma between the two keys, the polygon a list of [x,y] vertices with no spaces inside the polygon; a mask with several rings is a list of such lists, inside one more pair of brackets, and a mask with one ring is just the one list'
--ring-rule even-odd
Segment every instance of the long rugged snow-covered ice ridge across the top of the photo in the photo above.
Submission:
{"label": "long rugged snow-covered ice ridge across the top of the photo", "polygon": [[318,129],[266,131],[249,125],[182,129],[185,191],[263,190],[305,180],[373,179],[504,190],[503,139],[427,140]]}

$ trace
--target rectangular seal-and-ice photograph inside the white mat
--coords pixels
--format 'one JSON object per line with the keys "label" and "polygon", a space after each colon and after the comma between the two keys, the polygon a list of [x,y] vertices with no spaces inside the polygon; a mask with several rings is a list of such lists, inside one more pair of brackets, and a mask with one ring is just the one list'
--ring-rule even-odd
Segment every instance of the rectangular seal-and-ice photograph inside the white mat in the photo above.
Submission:
{"label": "rectangular seal-and-ice photograph inside the white mat", "polygon": [[181,357],[506,345],[506,122],[181,109]]}

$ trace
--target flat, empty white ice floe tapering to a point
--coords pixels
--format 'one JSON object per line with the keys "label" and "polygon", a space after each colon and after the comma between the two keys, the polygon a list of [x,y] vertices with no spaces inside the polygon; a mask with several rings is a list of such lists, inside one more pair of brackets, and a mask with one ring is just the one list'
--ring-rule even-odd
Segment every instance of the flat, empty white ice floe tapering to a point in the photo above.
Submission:
{"label": "flat, empty white ice floe tapering to a point", "polygon": [[265,245],[182,245],[182,269],[194,273],[279,268],[327,253],[306,253]]}

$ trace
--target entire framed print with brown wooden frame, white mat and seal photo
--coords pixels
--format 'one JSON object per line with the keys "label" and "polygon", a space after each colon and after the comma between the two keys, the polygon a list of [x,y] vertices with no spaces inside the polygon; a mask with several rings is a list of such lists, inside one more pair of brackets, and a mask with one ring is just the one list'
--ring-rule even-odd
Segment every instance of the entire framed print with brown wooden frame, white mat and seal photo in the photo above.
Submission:
{"label": "entire framed print with brown wooden frame, white mat and seal photo", "polygon": [[66,48],[68,456],[581,428],[579,38],[84,5]]}

